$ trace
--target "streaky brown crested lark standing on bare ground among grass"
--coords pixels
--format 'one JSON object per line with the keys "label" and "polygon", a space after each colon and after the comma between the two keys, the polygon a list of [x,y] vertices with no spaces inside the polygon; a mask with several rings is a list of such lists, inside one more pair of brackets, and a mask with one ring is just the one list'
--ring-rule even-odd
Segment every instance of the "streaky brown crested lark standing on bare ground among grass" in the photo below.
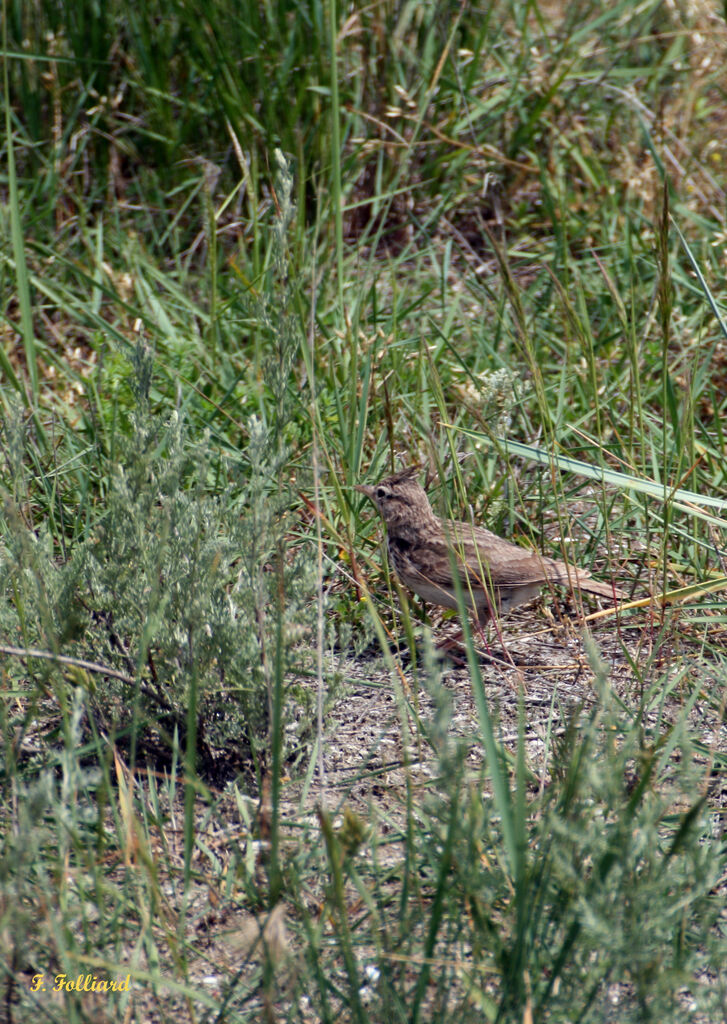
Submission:
{"label": "streaky brown crested lark standing on bare ground among grass", "polygon": [[536,597],[544,584],[559,584],[617,603],[624,594],[594,580],[588,569],[567,565],[520,548],[482,526],[440,519],[409,466],[375,486],[355,490],[378,509],[387,535],[387,551],[396,575],[425,601],[459,608],[454,573],[462,596],[482,630],[496,613],[508,612]]}

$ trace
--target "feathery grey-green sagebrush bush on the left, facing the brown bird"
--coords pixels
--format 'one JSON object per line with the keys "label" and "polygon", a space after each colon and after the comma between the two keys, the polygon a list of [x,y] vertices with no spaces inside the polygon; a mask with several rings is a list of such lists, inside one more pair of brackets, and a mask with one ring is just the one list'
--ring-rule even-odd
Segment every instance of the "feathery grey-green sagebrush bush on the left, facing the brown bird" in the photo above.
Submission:
{"label": "feathery grey-green sagebrush bush on the left, facing the brown bird", "polygon": [[[131,435],[106,461],[104,507],[88,539],[59,562],[49,535],[8,517],[4,631],[125,675],[94,674],[99,725],[119,729],[133,718],[142,724],[136,738],[167,756],[175,729],[183,736],[194,680],[201,767],[210,771],[224,752],[229,774],[267,748],[273,669],[289,680],[303,657],[296,641],[311,560],[286,543],[285,454],[261,422],[249,425],[241,457],[224,458],[179,412],[151,412],[148,367],[137,379]],[[43,676],[51,666],[42,663]],[[286,708],[300,717],[300,705]]]}

